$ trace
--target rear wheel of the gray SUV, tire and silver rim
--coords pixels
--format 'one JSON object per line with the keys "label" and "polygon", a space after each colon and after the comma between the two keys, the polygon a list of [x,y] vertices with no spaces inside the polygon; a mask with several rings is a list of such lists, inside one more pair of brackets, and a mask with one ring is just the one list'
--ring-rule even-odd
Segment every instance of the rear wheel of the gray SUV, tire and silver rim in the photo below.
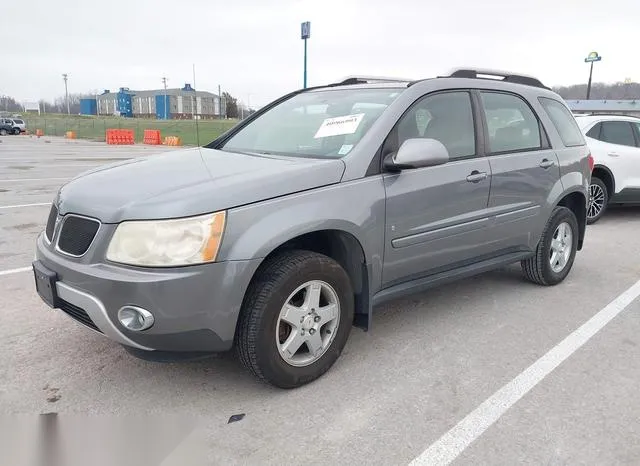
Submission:
{"label": "rear wheel of the gray SUV, tire and silver rim", "polygon": [[566,207],[556,207],[533,257],[521,262],[525,277],[538,285],[557,285],[569,274],[578,250],[578,220]]}

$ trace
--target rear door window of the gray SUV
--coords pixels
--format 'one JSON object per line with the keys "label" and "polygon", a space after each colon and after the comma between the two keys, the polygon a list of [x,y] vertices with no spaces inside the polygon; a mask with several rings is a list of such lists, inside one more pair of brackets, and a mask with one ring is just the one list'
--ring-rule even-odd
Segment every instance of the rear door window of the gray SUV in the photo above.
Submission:
{"label": "rear door window of the gray SUV", "polygon": [[542,147],[538,118],[524,100],[497,92],[481,92],[480,95],[490,152],[518,152]]}

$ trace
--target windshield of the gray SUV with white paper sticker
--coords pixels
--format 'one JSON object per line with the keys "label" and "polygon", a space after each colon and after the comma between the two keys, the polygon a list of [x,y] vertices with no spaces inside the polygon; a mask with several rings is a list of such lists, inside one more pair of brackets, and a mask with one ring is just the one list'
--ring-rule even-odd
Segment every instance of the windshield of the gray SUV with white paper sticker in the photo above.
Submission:
{"label": "windshield of the gray SUV with white paper sticker", "polygon": [[222,147],[301,157],[340,158],[367,133],[401,89],[303,92],[260,115]]}

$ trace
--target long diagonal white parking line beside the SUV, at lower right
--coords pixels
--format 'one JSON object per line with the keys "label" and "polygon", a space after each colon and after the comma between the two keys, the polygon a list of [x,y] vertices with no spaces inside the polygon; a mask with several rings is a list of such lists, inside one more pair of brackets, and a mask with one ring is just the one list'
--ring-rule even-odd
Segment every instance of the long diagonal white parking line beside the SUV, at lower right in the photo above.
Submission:
{"label": "long diagonal white parking line beside the SUV, at lower right", "polygon": [[410,466],[447,465],[563,361],[640,296],[640,280],[491,395],[449,432],[416,457]]}

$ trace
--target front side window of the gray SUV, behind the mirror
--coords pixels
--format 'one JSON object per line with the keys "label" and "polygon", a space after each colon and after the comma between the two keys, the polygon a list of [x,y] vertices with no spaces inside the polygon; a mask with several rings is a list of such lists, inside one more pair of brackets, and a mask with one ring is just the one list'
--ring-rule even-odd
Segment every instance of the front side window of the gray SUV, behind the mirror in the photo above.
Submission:
{"label": "front side window of the gray SUV, behind the mirror", "polygon": [[404,141],[413,138],[440,141],[451,160],[475,156],[471,95],[456,91],[422,97],[400,118],[385,144],[385,152],[398,150]]}

